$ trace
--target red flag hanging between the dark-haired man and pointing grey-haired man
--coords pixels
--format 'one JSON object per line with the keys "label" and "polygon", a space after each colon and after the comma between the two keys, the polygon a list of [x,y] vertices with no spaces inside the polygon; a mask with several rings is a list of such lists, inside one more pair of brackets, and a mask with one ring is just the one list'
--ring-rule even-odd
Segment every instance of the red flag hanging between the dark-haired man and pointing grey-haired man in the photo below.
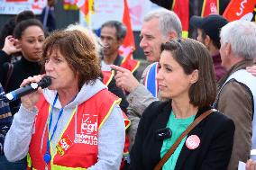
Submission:
{"label": "red flag hanging between the dark-haired man and pointing grey-haired man", "polygon": [[123,24],[126,26],[127,34],[123,40],[123,45],[120,47],[120,54],[127,59],[133,59],[133,50],[135,49],[133,29],[130,17],[130,11],[126,0],[123,0]]}

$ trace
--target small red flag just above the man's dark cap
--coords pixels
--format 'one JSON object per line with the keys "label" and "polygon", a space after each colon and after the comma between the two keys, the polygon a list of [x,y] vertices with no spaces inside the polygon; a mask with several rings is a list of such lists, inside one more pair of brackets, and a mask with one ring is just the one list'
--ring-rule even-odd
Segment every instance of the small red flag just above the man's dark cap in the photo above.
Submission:
{"label": "small red flag just above the man's dark cap", "polygon": [[206,17],[209,14],[218,14],[219,13],[219,1],[218,0],[204,0],[202,7],[202,17]]}

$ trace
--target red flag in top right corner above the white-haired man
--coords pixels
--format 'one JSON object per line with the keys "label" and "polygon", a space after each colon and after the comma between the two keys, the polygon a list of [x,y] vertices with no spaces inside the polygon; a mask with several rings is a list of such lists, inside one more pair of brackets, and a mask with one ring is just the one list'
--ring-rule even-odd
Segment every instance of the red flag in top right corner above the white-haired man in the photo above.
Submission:
{"label": "red flag in top right corner above the white-haired man", "polygon": [[251,21],[256,0],[232,0],[226,7],[223,16],[230,22],[244,18]]}

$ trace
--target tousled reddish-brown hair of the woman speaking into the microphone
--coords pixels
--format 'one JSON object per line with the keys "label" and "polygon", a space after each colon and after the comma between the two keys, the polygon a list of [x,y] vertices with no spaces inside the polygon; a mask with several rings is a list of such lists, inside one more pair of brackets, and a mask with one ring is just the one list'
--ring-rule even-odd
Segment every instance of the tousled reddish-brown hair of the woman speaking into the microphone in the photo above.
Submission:
{"label": "tousled reddish-brown hair of the woman speaking into the microphone", "polygon": [[82,31],[55,31],[44,41],[42,62],[59,49],[74,74],[78,73],[78,87],[95,82],[101,75],[96,44]]}

